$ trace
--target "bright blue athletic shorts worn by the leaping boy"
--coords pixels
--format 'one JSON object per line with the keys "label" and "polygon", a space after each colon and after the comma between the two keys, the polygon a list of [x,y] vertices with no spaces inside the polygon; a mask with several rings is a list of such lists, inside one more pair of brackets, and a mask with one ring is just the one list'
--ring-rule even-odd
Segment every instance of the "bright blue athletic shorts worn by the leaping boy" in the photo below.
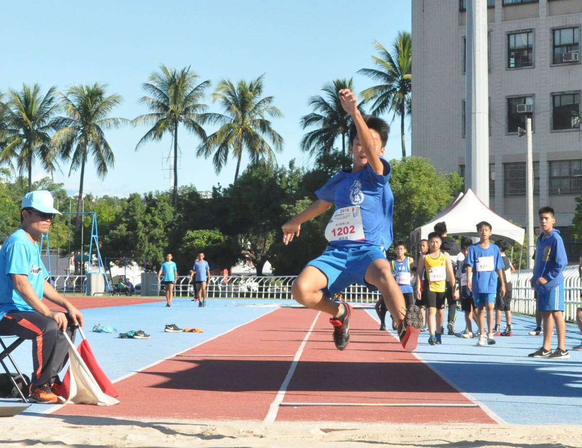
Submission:
{"label": "bright blue athletic shorts worn by the leaping boy", "polygon": [[371,291],[378,291],[374,285],[365,282],[364,275],[370,263],[379,258],[386,260],[386,253],[378,246],[350,249],[328,246],[324,253],[307,263],[307,266],[317,267],[327,277],[327,288],[321,292],[325,297],[331,298],[353,283],[366,285]]}

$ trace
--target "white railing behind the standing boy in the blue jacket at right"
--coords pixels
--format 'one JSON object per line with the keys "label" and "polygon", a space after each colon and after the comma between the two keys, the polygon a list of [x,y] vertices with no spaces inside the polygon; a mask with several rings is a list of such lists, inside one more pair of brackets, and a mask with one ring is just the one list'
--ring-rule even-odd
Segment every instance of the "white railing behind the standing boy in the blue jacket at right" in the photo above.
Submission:
{"label": "white railing behind the standing boy in the blue jacket at right", "polygon": [[[576,308],[582,307],[580,297],[580,277],[578,276],[578,266],[566,266],[564,274],[564,318],[567,321],[576,319]],[[533,271],[520,270],[512,274],[513,299],[512,311],[514,313],[535,315],[534,290],[531,289],[531,277]]]}

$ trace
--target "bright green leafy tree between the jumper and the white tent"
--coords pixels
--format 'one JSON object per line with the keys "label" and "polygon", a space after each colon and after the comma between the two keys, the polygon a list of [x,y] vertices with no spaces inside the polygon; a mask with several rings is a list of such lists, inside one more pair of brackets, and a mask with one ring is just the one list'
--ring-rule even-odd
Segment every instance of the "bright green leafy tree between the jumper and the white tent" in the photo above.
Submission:
{"label": "bright green leafy tree between the jumper and the white tent", "polygon": [[391,160],[390,164],[394,241],[409,241],[411,231],[430,221],[455,198],[463,180],[458,173],[435,170],[424,157]]}

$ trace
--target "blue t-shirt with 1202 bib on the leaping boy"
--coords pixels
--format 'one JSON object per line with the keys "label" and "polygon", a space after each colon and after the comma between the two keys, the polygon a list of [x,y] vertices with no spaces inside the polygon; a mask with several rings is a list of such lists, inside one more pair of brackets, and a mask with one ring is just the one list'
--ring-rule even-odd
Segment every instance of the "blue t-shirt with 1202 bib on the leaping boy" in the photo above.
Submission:
{"label": "blue t-shirt with 1202 bib on the leaping boy", "polygon": [[[374,173],[370,164],[357,173],[340,171],[315,192],[319,199],[335,204],[334,217],[326,229],[329,245],[389,248],[392,244],[394,196],[388,184],[391,168],[384,157],[380,160],[384,174]],[[345,213],[338,215],[342,211]]]}

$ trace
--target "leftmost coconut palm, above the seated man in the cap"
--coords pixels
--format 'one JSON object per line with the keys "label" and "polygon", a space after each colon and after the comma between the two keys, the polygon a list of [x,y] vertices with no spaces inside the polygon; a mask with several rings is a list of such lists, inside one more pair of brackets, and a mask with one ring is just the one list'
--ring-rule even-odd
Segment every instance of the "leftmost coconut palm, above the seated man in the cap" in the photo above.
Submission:
{"label": "leftmost coconut palm, above the seated man in the cap", "polygon": [[0,163],[12,170],[28,174],[28,191],[32,189],[32,169],[36,159],[43,169],[52,172],[56,167],[55,153],[49,145],[56,130],[54,115],[58,110],[55,87],[43,96],[38,84],[22,86],[22,91],[8,90],[8,101],[3,107],[5,130],[0,151]]}

